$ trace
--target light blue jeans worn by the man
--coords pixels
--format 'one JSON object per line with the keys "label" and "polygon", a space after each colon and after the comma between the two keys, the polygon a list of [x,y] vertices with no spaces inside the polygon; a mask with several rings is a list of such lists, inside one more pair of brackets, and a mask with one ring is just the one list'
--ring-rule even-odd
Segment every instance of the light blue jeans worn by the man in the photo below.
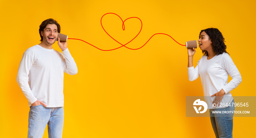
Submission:
{"label": "light blue jeans worn by the man", "polygon": [[64,123],[63,107],[48,108],[42,105],[31,106],[29,111],[28,138],[42,138],[48,124],[49,138],[61,138]]}

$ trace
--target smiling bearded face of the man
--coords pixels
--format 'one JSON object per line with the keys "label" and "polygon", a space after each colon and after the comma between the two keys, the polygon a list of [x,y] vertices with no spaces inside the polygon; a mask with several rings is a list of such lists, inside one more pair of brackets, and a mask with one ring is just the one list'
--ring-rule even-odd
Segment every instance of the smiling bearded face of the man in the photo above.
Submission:
{"label": "smiling bearded face of the man", "polygon": [[42,43],[46,45],[52,45],[57,40],[58,30],[56,24],[47,24],[44,28],[44,32],[41,31],[41,36],[43,36]]}

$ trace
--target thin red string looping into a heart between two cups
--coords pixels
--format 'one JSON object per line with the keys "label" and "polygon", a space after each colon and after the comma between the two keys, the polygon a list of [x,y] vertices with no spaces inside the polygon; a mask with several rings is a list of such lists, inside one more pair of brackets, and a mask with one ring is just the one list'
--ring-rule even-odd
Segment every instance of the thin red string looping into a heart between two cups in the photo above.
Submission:
{"label": "thin red string looping into a heart between two cups", "polygon": [[[114,14],[114,15],[118,16],[116,13],[106,13],[105,15],[107,15],[107,14]],[[105,15],[103,15],[103,16],[105,16]],[[108,34],[108,32],[104,29],[104,27],[103,27],[103,25],[102,25],[102,18],[103,18],[103,16],[101,17],[101,27],[102,27],[103,30]],[[121,19],[120,16],[118,16],[118,17]],[[129,18],[125,19],[124,21],[121,19],[121,21],[123,22],[123,24],[122,24],[123,30],[125,30],[124,22],[125,22],[126,20],[128,20],[128,19],[131,19],[131,18],[139,19],[138,17],[129,17]],[[139,20],[140,20],[140,19],[139,19]],[[141,30],[142,30],[142,21],[141,21],[141,20],[140,20],[140,23],[141,23],[141,28],[140,28],[140,31],[141,31]],[[140,33],[140,31],[139,31],[139,33]],[[133,39],[135,39],[135,38],[139,35],[139,33],[138,33]],[[154,35],[158,35],[158,34],[167,35],[167,34],[165,34],[165,33],[155,33]],[[108,35],[109,35],[109,34],[108,34]],[[154,36],[154,35],[153,35],[153,36]],[[109,36],[110,36],[110,35],[109,35]],[[151,36],[150,39],[151,39],[153,36]],[[167,36],[169,36],[170,38],[172,38],[172,36],[170,36],[170,35],[167,35]],[[112,36],[110,36],[110,38],[112,38]],[[80,41],[85,42],[84,40],[81,40],[81,39],[75,39],[75,38],[68,38],[68,39],[80,40]],[[119,43],[116,39],[114,39],[114,38],[112,38],[112,39],[115,40],[117,43]],[[133,39],[132,39],[132,40],[133,40]],[[150,39],[148,39],[147,42],[148,42]],[[173,38],[172,38],[172,39],[173,39]],[[132,40],[131,40],[131,41],[132,41]],[[173,39],[173,40],[174,40],[174,39]],[[128,43],[130,43],[131,41],[129,41]],[[178,43],[176,40],[174,40],[174,41],[175,41],[176,43]],[[145,46],[145,45],[147,44],[147,42],[146,42],[143,46]],[[90,43],[88,43],[88,42],[85,42],[85,43],[90,44]],[[116,50],[116,49],[121,48],[121,47],[126,47],[126,48],[128,48],[128,49],[130,49],[130,50],[138,50],[138,49],[140,49],[140,48],[143,47],[143,46],[142,46],[142,47],[136,48],[136,49],[129,48],[129,47],[125,46],[125,45],[127,45],[128,43],[126,43],[126,44],[121,44],[121,43],[119,43],[119,44],[121,44],[122,46],[117,47],[117,48],[114,48],[114,49],[110,49],[110,50],[102,50],[102,49],[100,49],[100,48],[98,48],[98,47],[93,46],[92,44],[90,44],[90,45],[93,46],[93,47],[95,47],[95,48],[97,48],[98,50],[102,50],[102,51]],[[178,43],[178,44],[180,44],[180,43]],[[180,44],[180,45],[181,45],[181,46],[186,46],[186,45],[182,45],[182,44]]]}

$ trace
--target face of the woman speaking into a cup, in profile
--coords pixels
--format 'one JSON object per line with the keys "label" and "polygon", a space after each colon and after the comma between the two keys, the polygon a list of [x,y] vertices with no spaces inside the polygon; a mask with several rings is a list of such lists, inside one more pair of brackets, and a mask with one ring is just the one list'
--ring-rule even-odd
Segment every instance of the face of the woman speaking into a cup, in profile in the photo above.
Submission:
{"label": "face of the woman speaking into a cup, in profile", "polygon": [[206,32],[202,32],[200,35],[200,39],[198,40],[198,44],[201,50],[210,50],[212,49],[212,42]]}

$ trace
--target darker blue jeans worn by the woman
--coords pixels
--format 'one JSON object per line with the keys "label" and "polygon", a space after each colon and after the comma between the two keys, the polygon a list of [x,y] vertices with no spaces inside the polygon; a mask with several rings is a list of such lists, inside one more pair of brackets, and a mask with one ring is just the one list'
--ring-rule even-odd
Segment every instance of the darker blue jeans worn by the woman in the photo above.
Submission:
{"label": "darker blue jeans worn by the woman", "polygon": [[[232,104],[226,108],[210,109],[210,119],[213,131],[216,138],[233,138],[233,113],[230,111],[235,110]],[[232,106],[233,105],[233,106]],[[214,114],[212,111],[219,111],[221,114]]]}

